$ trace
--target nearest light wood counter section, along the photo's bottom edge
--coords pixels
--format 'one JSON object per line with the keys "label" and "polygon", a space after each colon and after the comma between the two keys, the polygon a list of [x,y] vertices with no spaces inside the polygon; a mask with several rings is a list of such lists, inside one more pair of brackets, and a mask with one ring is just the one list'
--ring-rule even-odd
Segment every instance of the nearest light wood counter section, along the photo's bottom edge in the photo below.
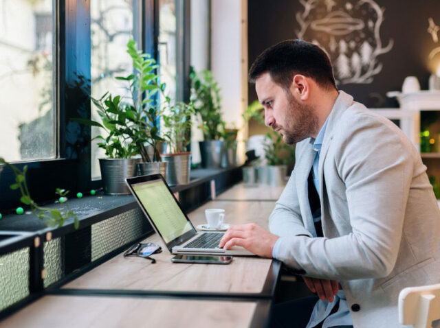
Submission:
{"label": "nearest light wood counter section, along the photo's bottom edge", "polygon": [[261,311],[258,304],[257,301],[44,296],[1,321],[0,327],[254,327],[262,321],[252,323],[256,312]]}

